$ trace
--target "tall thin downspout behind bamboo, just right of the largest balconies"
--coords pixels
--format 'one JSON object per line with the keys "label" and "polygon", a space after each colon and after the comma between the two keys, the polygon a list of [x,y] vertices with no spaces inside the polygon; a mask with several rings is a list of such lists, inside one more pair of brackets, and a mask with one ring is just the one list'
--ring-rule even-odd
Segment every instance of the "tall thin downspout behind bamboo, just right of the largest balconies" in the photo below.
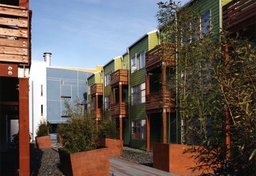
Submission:
{"label": "tall thin downspout behind bamboo, just right of the largest balconies", "polygon": [[[177,16],[176,16],[176,13],[175,13],[175,24],[176,24],[176,33],[177,33]],[[177,60],[178,49],[177,49],[177,47],[178,47],[178,44],[177,44],[177,42],[178,42],[178,40],[177,40],[177,34],[176,34],[176,47],[175,47],[175,52],[176,52],[176,54],[175,54],[175,64],[176,64],[176,71],[175,71],[175,74],[176,74],[176,88],[175,88],[175,91],[176,91],[176,139],[177,139],[176,143],[178,143],[178,109],[177,109],[177,107],[178,107],[178,88],[177,88],[177,86],[178,86],[178,70],[177,70],[178,69],[177,68],[177,63],[178,63],[178,60]],[[182,137],[183,127],[182,127],[182,124],[183,124],[183,122],[182,122],[182,119],[181,119],[181,138],[183,140],[183,137]]]}

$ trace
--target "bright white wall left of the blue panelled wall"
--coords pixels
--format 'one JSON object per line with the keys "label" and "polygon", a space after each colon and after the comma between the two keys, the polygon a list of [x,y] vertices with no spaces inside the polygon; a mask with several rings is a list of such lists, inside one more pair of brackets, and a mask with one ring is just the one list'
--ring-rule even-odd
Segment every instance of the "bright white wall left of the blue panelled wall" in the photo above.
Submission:
{"label": "bright white wall left of the blue panelled wall", "polygon": [[[44,61],[32,61],[29,74],[29,131],[33,133],[32,140],[35,140],[36,127],[41,118],[47,118],[47,89],[46,89],[46,67]],[[41,95],[41,85],[43,94]],[[43,115],[41,115],[43,105]]]}

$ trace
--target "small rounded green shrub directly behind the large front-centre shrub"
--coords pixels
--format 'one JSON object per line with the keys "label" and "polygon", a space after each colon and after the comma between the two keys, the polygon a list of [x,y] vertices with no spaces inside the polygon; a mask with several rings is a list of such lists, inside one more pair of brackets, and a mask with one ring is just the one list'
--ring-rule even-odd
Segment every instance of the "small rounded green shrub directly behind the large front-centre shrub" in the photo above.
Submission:
{"label": "small rounded green shrub directly behind the large front-centre shrub", "polygon": [[112,122],[110,118],[103,118],[103,120],[100,120],[98,127],[98,137],[118,140],[119,131],[116,128],[115,122]]}

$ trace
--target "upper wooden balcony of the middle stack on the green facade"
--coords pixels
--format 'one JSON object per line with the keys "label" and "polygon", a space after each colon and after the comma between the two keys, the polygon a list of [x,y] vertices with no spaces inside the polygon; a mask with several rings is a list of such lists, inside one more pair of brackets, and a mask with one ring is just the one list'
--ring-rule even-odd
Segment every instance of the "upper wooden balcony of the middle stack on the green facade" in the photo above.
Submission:
{"label": "upper wooden balcony of the middle stack on the green facade", "polygon": [[128,84],[128,70],[119,69],[110,75],[111,87],[117,86],[120,82]]}

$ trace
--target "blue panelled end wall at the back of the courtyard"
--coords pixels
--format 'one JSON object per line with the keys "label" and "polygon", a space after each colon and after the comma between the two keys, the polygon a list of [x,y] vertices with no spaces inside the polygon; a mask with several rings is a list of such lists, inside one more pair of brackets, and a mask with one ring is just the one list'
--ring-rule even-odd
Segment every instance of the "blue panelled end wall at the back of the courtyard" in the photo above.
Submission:
{"label": "blue panelled end wall at the back of the courtyard", "polygon": [[87,100],[87,77],[90,72],[47,68],[47,120],[52,124],[65,122],[61,118],[64,108],[64,99],[61,96],[71,97],[68,102],[74,106],[74,100]]}

